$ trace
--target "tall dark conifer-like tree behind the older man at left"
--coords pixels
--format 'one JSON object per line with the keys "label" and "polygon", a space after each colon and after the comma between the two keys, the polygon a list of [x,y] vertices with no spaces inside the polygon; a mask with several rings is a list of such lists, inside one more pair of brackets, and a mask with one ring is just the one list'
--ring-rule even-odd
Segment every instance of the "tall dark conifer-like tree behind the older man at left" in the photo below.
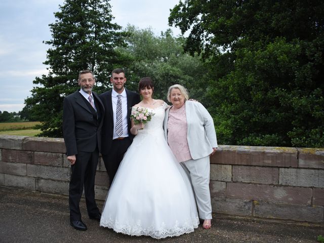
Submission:
{"label": "tall dark conifer-like tree behind the older man at left", "polygon": [[108,86],[109,72],[118,65],[114,51],[123,46],[125,32],[112,23],[109,0],[65,0],[56,21],[50,24],[52,40],[45,43],[48,75],[36,77],[31,97],[25,99],[28,113],[42,124],[40,136],[62,137],[63,98],[78,87],[77,75],[84,69],[93,71],[97,89]]}

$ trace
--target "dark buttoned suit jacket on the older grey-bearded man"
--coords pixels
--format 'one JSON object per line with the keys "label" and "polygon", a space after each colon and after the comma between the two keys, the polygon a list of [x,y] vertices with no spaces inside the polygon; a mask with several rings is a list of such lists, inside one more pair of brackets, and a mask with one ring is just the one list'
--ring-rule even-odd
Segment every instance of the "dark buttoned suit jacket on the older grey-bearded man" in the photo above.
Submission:
{"label": "dark buttoned suit jacket on the older grey-bearded man", "polygon": [[[65,97],[63,106],[63,135],[66,155],[78,152],[93,152],[101,148],[101,127],[104,106],[99,96],[94,96],[97,114],[79,91]],[[89,103],[89,104],[88,104]],[[98,115],[98,119],[97,116]]]}

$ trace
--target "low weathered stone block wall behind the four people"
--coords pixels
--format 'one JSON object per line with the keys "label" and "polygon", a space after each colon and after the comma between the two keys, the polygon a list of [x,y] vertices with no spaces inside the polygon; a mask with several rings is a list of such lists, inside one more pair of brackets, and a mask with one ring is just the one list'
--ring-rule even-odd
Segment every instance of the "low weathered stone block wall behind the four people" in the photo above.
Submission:
{"label": "low weathered stone block wall behind the four people", "polygon": [[[0,136],[0,186],[68,195],[63,139]],[[96,198],[108,176],[100,159]],[[324,149],[220,145],[211,157],[213,212],[324,223]]]}

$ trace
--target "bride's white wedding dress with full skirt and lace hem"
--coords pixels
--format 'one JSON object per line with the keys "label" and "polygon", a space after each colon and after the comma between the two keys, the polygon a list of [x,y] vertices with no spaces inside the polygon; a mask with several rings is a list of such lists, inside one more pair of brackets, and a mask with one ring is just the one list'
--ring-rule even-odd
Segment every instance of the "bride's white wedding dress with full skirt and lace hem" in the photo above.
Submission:
{"label": "bride's white wedding dress with full skirt and lace hem", "polygon": [[139,130],[108,192],[100,226],[165,238],[193,232],[199,220],[190,182],[163,131],[167,104]]}

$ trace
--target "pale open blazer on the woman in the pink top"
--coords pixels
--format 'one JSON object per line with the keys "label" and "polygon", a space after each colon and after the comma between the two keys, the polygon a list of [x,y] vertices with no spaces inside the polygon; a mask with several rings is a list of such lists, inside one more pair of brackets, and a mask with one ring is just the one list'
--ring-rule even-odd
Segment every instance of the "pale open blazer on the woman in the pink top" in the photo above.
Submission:
{"label": "pale open blazer on the woman in the pink top", "polygon": [[[172,106],[171,106],[172,107]],[[168,141],[169,107],[164,118],[165,137]],[[217,138],[214,121],[208,110],[199,102],[186,101],[187,141],[190,155],[199,159],[210,155],[213,148],[217,148]]]}

